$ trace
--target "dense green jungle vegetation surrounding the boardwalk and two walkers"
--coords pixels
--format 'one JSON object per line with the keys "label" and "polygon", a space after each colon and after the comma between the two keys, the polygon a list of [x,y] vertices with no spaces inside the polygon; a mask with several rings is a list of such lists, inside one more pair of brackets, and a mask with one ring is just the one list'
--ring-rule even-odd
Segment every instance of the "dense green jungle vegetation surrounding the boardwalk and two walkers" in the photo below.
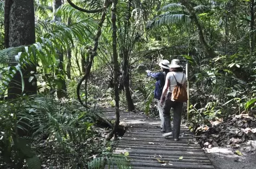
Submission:
{"label": "dense green jungle vegetation surrounding the boardwalk and two walkers", "polygon": [[[0,168],[128,168],[127,154],[112,154],[119,109],[158,115],[145,70],[163,59],[189,63],[189,126],[256,115],[255,7],[1,0]],[[116,120],[98,107],[115,107]]]}

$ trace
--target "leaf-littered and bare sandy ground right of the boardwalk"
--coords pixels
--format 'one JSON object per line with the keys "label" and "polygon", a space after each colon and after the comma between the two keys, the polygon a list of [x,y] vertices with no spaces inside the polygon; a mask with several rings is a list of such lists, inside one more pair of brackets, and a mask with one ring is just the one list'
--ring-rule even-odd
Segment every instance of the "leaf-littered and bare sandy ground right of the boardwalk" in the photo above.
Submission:
{"label": "leaf-littered and bare sandy ground right of the boardwalk", "polygon": [[197,128],[196,137],[216,169],[254,169],[256,117],[231,115]]}

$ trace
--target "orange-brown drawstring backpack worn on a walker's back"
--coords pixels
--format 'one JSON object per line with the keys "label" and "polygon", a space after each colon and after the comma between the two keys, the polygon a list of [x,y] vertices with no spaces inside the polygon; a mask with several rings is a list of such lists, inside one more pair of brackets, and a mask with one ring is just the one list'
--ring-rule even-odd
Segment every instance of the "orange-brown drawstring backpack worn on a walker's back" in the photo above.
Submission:
{"label": "orange-brown drawstring backpack worn on a walker's back", "polygon": [[[177,79],[176,79],[175,75],[174,75],[174,78],[176,80],[177,85],[174,87],[174,90],[172,90],[171,100],[172,101],[177,101],[177,102],[186,102],[186,101],[188,101],[188,94],[187,94],[187,91],[185,90],[185,88],[183,87],[183,84],[177,82]],[[183,78],[184,78],[184,73],[183,73],[183,77],[182,77],[181,82],[183,81]]]}

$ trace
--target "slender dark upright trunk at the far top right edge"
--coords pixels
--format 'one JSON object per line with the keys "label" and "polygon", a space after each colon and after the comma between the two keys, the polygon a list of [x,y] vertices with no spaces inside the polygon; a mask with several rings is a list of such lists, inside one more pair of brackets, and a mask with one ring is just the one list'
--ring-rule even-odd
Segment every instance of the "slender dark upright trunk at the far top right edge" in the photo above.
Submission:
{"label": "slender dark upright trunk at the far top right edge", "polygon": [[254,10],[254,0],[251,0],[251,5],[250,5],[250,9],[251,9],[251,22],[250,22],[250,26],[251,26],[251,35],[250,35],[250,47],[251,47],[251,54],[254,52],[254,48],[255,48],[255,34],[254,34],[254,27],[255,27],[255,10]]}

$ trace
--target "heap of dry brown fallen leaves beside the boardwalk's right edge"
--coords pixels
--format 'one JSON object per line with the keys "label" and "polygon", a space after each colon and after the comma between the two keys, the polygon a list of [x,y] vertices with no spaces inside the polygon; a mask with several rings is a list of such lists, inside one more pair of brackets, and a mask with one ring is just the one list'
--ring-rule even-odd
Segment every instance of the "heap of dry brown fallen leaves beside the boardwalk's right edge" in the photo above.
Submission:
{"label": "heap of dry brown fallen leaves beside the boardwalk's right edge", "polygon": [[213,127],[201,126],[197,128],[196,138],[201,146],[206,148],[239,147],[247,140],[256,140],[255,116],[248,114],[230,115],[227,119],[216,121],[212,122]]}

